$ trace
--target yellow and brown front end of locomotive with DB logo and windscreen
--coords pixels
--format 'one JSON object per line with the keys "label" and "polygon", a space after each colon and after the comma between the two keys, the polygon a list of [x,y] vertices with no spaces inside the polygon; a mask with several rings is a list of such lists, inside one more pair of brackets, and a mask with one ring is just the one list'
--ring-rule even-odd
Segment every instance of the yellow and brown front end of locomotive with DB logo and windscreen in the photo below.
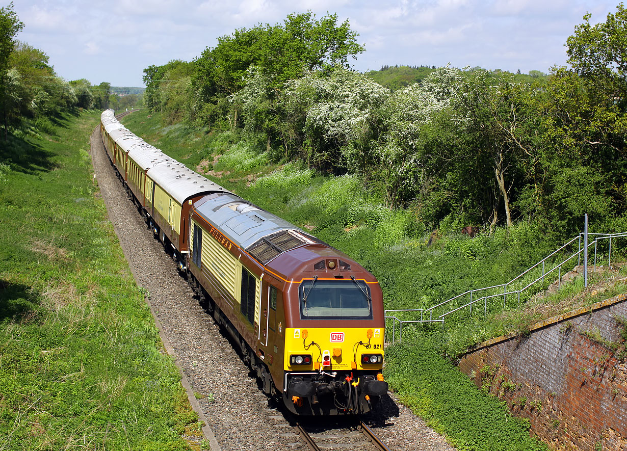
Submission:
{"label": "yellow and brown front end of locomotive with DB logo and windscreen", "polygon": [[387,393],[381,289],[366,274],[320,274],[292,284],[282,390],[292,412],[366,413]]}

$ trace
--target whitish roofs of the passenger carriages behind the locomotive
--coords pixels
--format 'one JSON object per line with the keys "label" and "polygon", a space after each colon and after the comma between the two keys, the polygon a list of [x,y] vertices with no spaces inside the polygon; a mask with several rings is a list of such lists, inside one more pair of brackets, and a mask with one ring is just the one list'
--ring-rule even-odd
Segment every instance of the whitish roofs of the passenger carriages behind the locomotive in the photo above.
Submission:
{"label": "whitish roofs of the passenger carriages behind the locomotive", "polygon": [[203,193],[230,193],[229,190],[211,182],[134,135],[115,118],[113,110],[103,111],[100,119],[117,145],[124,149],[143,170],[147,170],[150,179],[166,190],[179,204]]}

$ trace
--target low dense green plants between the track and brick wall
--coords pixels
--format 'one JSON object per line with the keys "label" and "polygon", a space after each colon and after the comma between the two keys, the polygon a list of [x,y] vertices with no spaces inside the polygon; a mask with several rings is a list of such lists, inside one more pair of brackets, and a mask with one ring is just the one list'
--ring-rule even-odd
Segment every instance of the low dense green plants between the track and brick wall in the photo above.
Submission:
{"label": "low dense green plants between the track and brick wall", "polygon": [[459,451],[534,451],[529,422],[514,418],[498,398],[477,390],[428,339],[386,351],[386,380],[401,401]]}

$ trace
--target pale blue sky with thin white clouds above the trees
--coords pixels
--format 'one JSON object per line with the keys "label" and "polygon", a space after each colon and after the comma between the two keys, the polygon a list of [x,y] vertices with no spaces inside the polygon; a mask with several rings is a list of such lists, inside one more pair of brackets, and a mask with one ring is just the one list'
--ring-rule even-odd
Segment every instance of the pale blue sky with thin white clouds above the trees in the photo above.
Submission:
{"label": "pale blue sky with thin white clouds above the trees", "polygon": [[[6,1],[6,0],[5,0]],[[191,61],[216,38],[289,13],[337,13],[366,51],[359,71],[382,65],[482,66],[523,73],[566,64],[566,38],[604,21],[618,0],[14,0],[18,39],[50,56],[66,80],[143,86],[142,71]]]}

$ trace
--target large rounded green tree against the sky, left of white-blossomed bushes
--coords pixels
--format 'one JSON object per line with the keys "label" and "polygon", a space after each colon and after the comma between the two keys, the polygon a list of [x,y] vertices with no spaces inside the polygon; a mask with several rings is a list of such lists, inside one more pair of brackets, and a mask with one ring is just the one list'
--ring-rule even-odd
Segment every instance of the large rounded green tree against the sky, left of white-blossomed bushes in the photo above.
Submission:
{"label": "large rounded green tree against the sky, left of white-blossomed bushes", "polygon": [[194,60],[192,86],[205,104],[198,110],[208,115],[202,120],[218,120],[224,114],[222,100],[244,88],[252,66],[272,83],[270,88],[280,90],[287,80],[300,78],[306,71],[347,66],[350,56],[364,51],[356,39],[348,21],[337,24],[337,14],[316,19],[311,12],[221,36],[216,47],[206,48]]}

